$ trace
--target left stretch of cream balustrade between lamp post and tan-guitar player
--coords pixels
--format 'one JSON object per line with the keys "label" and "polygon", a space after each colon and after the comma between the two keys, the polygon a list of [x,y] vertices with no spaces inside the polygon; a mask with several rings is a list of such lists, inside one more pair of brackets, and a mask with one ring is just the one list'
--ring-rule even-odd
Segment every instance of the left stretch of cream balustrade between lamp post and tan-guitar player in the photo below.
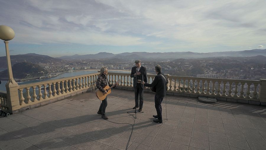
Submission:
{"label": "left stretch of cream balustrade between lamp post and tan-guitar player", "polygon": [[[92,73],[88,75],[19,85],[18,92],[20,108],[29,107],[51,99],[63,99],[73,95],[73,93],[82,93],[87,89],[95,88],[98,75],[99,73]],[[37,90],[36,87],[38,88]]]}

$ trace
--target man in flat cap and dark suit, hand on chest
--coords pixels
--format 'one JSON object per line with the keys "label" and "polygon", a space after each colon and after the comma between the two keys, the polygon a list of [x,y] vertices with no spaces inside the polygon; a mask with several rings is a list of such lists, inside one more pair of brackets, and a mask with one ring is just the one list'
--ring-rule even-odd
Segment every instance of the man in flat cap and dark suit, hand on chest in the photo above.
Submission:
{"label": "man in flat cap and dark suit, hand on chest", "polygon": [[[131,78],[133,78],[133,88],[135,93],[135,107],[133,109],[139,108],[139,112],[142,111],[143,107],[143,89],[144,85],[137,83],[137,80],[142,80],[148,82],[147,70],[145,67],[140,65],[140,60],[135,60],[135,67],[131,69]],[[139,100],[140,97],[140,100]]]}

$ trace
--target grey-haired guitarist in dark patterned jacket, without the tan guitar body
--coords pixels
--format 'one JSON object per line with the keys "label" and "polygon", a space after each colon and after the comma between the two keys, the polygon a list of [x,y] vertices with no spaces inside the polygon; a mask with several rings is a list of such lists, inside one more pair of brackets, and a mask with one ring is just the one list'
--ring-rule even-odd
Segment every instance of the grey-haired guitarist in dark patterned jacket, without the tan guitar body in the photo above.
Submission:
{"label": "grey-haired guitarist in dark patterned jacket, without the tan guitar body", "polygon": [[[100,75],[98,76],[98,79],[97,79],[97,82],[96,82],[96,87],[101,91],[103,92],[103,94],[107,94],[108,91],[106,91],[104,88],[108,85],[108,86],[111,86],[109,85],[109,81],[107,79],[107,75],[108,75],[108,70],[107,70],[107,67],[101,67],[101,70],[100,70]],[[116,82],[116,85],[117,86],[118,83]],[[115,87],[114,86],[114,87]],[[102,118],[107,120],[108,117],[106,117],[105,115],[105,109],[107,107],[107,96],[106,98],[102,101],[101,105],[100,105],[100,108],[97,112],[97,114],[101,114],[102,115]]]}

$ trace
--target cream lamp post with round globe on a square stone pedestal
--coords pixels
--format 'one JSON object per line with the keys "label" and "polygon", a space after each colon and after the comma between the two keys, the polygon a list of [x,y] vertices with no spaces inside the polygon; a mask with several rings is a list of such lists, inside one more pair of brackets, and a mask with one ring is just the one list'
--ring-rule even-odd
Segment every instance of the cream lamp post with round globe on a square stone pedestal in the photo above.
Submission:
{"label": "cream lamp post with round globe on a square stone pedestal", "polygon": [[14,30],[6,25],[0,25],[0,39],[4,40],[6,46],[6,57],[7,57],[7,72],[8,72],[8,82],[6,84],[7,88],[7,103],[10,113],[18,112],[20,109],[19,97],[18,97],[18,84],[13,78],[11,60],[9,55],[8,43],[15,36]]}

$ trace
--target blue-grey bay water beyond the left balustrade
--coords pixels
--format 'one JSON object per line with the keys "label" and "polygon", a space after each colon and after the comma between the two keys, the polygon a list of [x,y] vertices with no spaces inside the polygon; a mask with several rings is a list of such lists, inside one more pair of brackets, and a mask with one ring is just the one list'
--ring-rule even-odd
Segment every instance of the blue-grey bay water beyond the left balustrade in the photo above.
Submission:
{"label": "blue-grey bay water beyond the left balustrade", "polygon": [[[6,70],[6,69],[0,69],[0,72]],[[46,79],[41,79],[41,80],[30,80],[30,81],[23,81],[23,82],[18,82],[19,85],[21,84],[29,84],[29,83],[35,83],[35,82],[42,82],[42,81],[49,81],[49,80],[56,80],[56,79],[60,79],[60,78],[67,78],[67,77],[74,77],[74,76],[78,76],[78,75],[86,75],[86,74],[90,74],[90,73],[96,73],[98,71],[93,71],[93,70],[79,70],[79,71],[71,71],[71,72],[65,72],[62,73],[56,77],[52,77],[52,78],[46,78]],[[130,71],[113,71],[113,70],[109,70],[109,73],[130,73]],[[0,84],[0,91],[7,91],[6,90],[6,85],[7,81],[1,81]]]}

